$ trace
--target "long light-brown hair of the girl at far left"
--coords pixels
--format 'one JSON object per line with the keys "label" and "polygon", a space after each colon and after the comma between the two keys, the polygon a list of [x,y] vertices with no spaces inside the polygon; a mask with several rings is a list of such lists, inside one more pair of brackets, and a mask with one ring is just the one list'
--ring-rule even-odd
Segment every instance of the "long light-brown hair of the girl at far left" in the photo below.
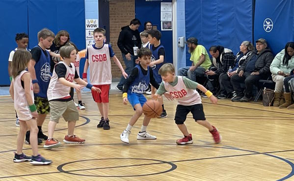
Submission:
{"label": "long light-brown hair of the girl at far left", "polygon": [[12,59],[12,76],[15,79],[21,71],[27,68],[27,63],[31,59],[31,54],[26,49],[18,49],[15,51]]}

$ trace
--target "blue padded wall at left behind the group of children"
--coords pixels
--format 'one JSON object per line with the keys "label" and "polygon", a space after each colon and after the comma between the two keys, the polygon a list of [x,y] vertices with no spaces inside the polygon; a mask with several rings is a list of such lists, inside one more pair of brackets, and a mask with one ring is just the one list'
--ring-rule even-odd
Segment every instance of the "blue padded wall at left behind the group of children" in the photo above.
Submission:
{"label": "blue padded wall at left behind the group of children", "polygon": [[[15,34],[26,32],[28,48],[38,44],[37,33],[43,28],[67,30],[79,49],[85,48],[85,10],[83,0],[0,0],[0,85],[9,85],[9,53],[17,47]],[[5,18],[3,18],[5,17]]]}

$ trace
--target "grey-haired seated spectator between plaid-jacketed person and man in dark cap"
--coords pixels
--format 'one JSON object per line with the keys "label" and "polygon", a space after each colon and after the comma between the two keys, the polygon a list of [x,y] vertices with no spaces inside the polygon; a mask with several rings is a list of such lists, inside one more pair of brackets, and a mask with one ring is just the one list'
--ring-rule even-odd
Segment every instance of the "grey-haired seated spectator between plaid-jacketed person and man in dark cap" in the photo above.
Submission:
{"label": "grey-haired seated spectator between plaid-jacketed person and man in dark cap", "polygon": [[[234,88],[230,82],[231,77],[235,75],[241,67],[242,63],[250,58],[252,52],[255,51],[253,44],[250,41],[243,41],[240,45],[240,52],[236,55],[234,67],[231,72],[227,72],[226,74],[221,74],[219,76],[219,84],[220,84],[220,94],[217,96],[219,99],[224,98],[232,98],[234,95]],[[235,94],[236,95],[236,94]]]}

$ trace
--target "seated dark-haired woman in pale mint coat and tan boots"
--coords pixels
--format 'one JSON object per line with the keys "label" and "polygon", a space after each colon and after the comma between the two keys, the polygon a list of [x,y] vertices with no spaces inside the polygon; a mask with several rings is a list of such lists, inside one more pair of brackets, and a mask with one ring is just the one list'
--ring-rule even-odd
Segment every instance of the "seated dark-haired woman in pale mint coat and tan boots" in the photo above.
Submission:
{"label": "seated dark-haired woman in pale mint coat and tan boots", "polygon": [[[275,63],[275,64],[280,63],[279,65],[281,67],[275,68],[273,63]],[[288,42],[285,46],[285,49],[282,50],[280,53],[278,53],[276,55],[276,57],[274,58],[274,60],[272,61],[272,63],[270,64],[270,71],[272,73],[272,80],[275,81],[277,75],[280,75],[281,78],[283,79],[282,86],[284,86],[285,103],[281,104],[279,102],[280,103],[279,108],[294,109],[294,104],[291,105],[291,89],[292,89],[292,91],[294,90],[293,64],[294,64],[294,42]],[[292,67],[292,68],[290,68],[290,67]],[[292,69],[292,70],[289,70],[289,69]],[[290,73],[290,76],[289,76],[289,73]],[[274,78],[274,76],[275,76],[275,78]],[[279,86],[278,88],[277,88],[277,85]],[[279,96],[278,93],[276,93],[276,92],[278,92],[277,90],[278,89],[282,90],[280,86],[281,86],[280,82],[277,81],[276,87],[275,87],[275,100],[276,100],[276,96]],[[277,104],[277,102],[276,102],[276,104]]]}

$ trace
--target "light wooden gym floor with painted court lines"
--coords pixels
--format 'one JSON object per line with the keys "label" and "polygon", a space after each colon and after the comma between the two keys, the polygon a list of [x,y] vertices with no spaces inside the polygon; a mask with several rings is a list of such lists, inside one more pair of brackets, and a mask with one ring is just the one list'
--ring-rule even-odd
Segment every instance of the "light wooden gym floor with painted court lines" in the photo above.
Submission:
{"label": "light wooden gym floor with painted court lines", "polygon": [[[147,96],[150,98],[150,96]],[[130,144],[119,135],[134,114],[123,105],[121,94],[110,94],[110,130],[96,128],[100,114],[90,93],[83,92],[86,110],[80,110],[75,133],[84,144],[64,144],[39,152],[52,165],[14,163],[19,127],[15,126],[13,102],[0,97],[0,181],[294,181],[294,112],[264,107],[259,103],[203,98],[206,118],[218,128],[222,142],[215,145],[205,127],[189,114],[186,124],[194,143],[180,146],[183,135],[174,123],[177,103],[164,99],[168,117],[152,119],[148,130],[157,140],[136,140],[140,118],[132,129]],[[43,131],[47,134],[47,117]],[[54,138],[67,133],[63,119]],[[24,153],[31,155],[29,145]]]}

